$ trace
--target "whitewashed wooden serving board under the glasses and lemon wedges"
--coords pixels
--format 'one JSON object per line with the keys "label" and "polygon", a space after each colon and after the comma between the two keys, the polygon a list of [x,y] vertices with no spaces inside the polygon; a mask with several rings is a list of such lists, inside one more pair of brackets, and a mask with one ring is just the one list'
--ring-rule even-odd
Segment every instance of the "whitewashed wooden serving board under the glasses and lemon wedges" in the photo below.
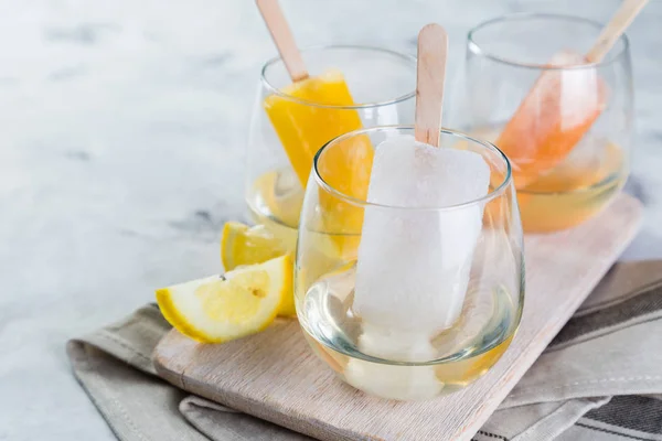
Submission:
{"label": "whitewashed wooden serving board under the glasses and lemon wedges", "polygon": [[182,389],[321,440],[469,440],[631,241],[641,217],[641,204],[622,194],[575,229],[527,236],[520,330],[492,370],[456,394],[414,402],[370,397],[312,354],[293,320],[223,345],[172,331],[154,364]]}

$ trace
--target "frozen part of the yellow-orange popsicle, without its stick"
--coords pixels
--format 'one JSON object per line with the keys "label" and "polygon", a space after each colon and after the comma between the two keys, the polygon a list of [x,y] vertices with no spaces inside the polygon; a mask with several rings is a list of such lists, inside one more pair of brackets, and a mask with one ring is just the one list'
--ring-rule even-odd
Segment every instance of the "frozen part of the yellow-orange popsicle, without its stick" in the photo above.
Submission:
{"label": "frozen part of the yellow-orange popsicle, without its stick", "polygon": [[[324,107],[354,105],[344,77],[338,71],[296,82],[281,92],[288,97],[268,96],[265,110],[301,186],[306,187],[318,150],[333,138],[361,129],[361,118],[355,109]],[[372,160],[370,139],[354,137],[325,152],[319,173],[340,193],[365,200]],[[319,197],[322,228],[332,236],[330,252],[350,258],[359,244],[363,209],[323,190]]]}

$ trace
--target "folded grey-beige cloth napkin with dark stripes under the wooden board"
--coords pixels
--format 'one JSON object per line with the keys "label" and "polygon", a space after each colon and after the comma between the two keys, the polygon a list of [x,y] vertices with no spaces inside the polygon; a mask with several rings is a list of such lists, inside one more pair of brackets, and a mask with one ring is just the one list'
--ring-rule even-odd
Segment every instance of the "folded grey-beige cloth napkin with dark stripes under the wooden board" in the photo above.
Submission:
{"label": "folded grey-beige cloth napkin with dark stripes under the wooden board", "polygon": [[[169,330],[150,304],[68,342],[120,440],[311,440],[157,377],[150,355]],[[662,440],[662,261],[616,265],[473,439]]]}

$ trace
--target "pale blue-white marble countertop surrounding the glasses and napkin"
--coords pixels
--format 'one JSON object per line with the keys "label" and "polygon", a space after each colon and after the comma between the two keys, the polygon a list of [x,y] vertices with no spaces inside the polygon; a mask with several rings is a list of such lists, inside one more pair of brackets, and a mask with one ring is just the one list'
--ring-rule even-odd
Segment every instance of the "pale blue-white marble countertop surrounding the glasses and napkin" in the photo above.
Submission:
{"label": "pale blue-white marble countertop surrounding the glasses and napkin", "polygon": [[[503,12],[601,21],[617,0],[282,0],[299,41],[415,51]],[[580,3],[577,6],[577,3]],[[662,257],[662,1],[629,32],[637,142],[628,191],[647,207],[623,259]],[[218,270],[225,220],[245,215],[243,153],[260,63],[253,2],[0,2],[0,440],[110,440],[71,374],[76,335]]]}

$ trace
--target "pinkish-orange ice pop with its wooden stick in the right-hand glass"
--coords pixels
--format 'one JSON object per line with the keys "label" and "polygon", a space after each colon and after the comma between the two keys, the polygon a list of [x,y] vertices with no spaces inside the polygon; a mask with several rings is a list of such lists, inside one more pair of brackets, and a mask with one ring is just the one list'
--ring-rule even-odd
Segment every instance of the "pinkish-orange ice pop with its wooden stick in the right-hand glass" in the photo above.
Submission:
{"label": "pinkish-orange ice pop with its wooden stick in the right-hand glass", "polygon": [[[624,0],[591,50],[563,52],[549,65],[600,62],[648,0]],[[579,142],[607,104],[607,86],[590,66],[545,71],[523,99],[496,146],[513,165],[515,185],[525,187],[557,165]]]}

